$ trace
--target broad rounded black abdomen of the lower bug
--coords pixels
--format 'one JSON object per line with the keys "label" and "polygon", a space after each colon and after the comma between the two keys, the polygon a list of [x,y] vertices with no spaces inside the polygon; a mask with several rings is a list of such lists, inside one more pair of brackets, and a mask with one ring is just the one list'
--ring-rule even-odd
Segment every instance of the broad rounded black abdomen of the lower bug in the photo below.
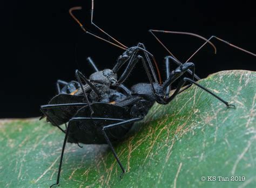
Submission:
{"label": "broad rounded black abdomen of the lower bug", "polygon": [[[131,117],[126,108],[110,105],[107,103],[92,103],[93,115],[91,117],[88,106],[80,108],[76,115],[70,120],[70,134],[68,142],[83,144],[107,144],[102,133],[106,124],[114,124],[129,120]],[[131,129],[132,124],[107,130],[111,142],[122,139]]]}

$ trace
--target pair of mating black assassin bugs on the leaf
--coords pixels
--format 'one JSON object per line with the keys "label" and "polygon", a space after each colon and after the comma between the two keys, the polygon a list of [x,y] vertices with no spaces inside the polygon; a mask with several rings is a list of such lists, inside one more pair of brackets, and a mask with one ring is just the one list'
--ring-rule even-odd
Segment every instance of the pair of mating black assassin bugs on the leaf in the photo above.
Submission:
{"label": "pair of mating black assassin bugs on the leaf", "polygon": [[[154,37],[156,37],[159,43],[163,45],[172,55],[165,58],[167,79],[162,83],[156,61],[154,60],[153,55],[145,49],[143,44],[138,44],[138,46],[128,48],[116,39],[109,36],[109,34],[100,29],[97,25],[95,25],[92,22],[93,1],[91,13],[92,24],[95,25],[97,29],[113,39],[115,42],[112,43],[108,40],[105,40],[104,38],[96,36],[95,34],[87,32],[84,26],[80,24],[79,20],[72,14],[72,11],[77,9],[80,8],[78,7],[70,9],[70,14],[87,34],[91,34],[94,37],[118,46],[125,50],[125,52],[120,55],[113,69],[104,69],[103,71],[98,71],[96,65],[92,62],[91,59],[89,59],[90,64],[95,68],[96,72],[91,74],[89,79],[86,79],[82,73],[76,71],[77,81],[71,81],[69,83],[58,81],[57,88],[59,94],[50,101],[49,105],[41,107],[41,110],[47,119],[54,126],[57,126],[65,133],[57,182],[53,185],[57,185],[59,183],[66,142],[84,144],[108,144],[120,168],[122,169],[122,172],[124,173],[125,168],[119,161],[112,143],[118,142],[120,138],[125,137],[129,130],[132,128],[133,123],[142,120],[147,112],[149,112],[149,109],[152,107],[154,102],[166,105],[172,101],[175,96],[177,96],[180,92],[183,92],[192,84],[195,84],[201,89],[204,89],[206,92],[210,93],[215,98],[225,103],[227,107],[233,106],[225,100],[219,98],[219,96],[215,95],[207,88],[195,82],[194,78],[198,80],[199,77],[194,73],[194,64],[187,61],[184,64],[181,64],[180,61],[173,57],[171,52],[163,45],[163,43],[161,43],[156,35],[153,34],[153,32],[167,31],[150,30],[150,32]],[[206,41],[205,44],[210,43],[209,40],[213,38],[211,37],[207,40],[193,33],[171,31],[170,33],[189,34],[191,36],[196,36],[204,39]],[[226,43],[226,41],[224,42]],[[212,43],[210,44],[214,47]],[[234,45],[231,46],[239,48]],[[198,50],[200,50],[200,48]],[[198,50],[196,52],[198,52]],[[240,50],[245,51],[243,49]],[[170,60],[178,65],[178,67],[173,71],[170,71]],[[157,79],[156,73],[154,72],[153,63],[151,61],[154,62],[154,65],[157,69],[159,81]],[[127,79],[133,67],[138,62],[143,64],[149,79],[149,83],[137,83],[128,89],[122,85],[122,83]],[[127,64],[127,66],[118,79],[117,73],[120,70],[120,67],[124,66],[125,64]],[[192,78],[185,77],[184,73],[191,74]],[[178,81],[178,86],[176,91],[170,96],[170,86],[175,81]],[[183,88],[186,82],[189,84]],[[60,85],[63,85],[63,87],[60,88]],[[60,125],[64,123],[68,123],[66,130],[63,130],[60,127]]]}

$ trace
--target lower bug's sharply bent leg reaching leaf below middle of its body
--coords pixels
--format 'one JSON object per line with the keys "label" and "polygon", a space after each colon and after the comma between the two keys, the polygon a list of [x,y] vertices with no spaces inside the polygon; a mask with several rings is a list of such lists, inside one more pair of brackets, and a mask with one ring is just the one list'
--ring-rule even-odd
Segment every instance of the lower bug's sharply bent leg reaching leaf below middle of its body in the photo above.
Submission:
{"label": "lower bug's sharply bent leg reaching leaf below middle of its body", "polygon": [[117,156],[117,153],[116,153],[116,151],[114,150],[113,145],[111,144],[111,142],[110,142],[110,140],[109,140],[109,137],[107,137],[105,130],[111,129],[111,128],[114,128],[114,127],[118,127],[118,126],[123,126],[123,125],[125,125],[125,124],[131,124],[131,123],[134,123],[134,122],[136,122],[136,121],[140,121],[140,120],[142,120],[142,119],[143,119],[143,117],[137,117],[137,118],[134,118],[134,119],[131,119],[131,120],[126,120],[126,121],[123,121],[123,122],[118,122],[118,123],[110,124],[110,125],[104,126],[104,127],[102,128],[102,131],[103,131],[103,134],[104,134],[104,136],[105,136],[105,138],[106,138],[107,144],[109,144],[109,147],[110,147],[110,149],[112,150],[113,155],[114,155],[114,157],[115,157],[116,160],[117,160],[117,163],[119,164],[120,168],[121,168],[122,171],[123,171],[123,173],[120,175],[120,177],[122,177],[122,175],[125,173],[125,169],[124,169],[124,166],[122,165],[122,163],[120,162],[120,160],[119,160],[119,158],[118,158],[118,156]]}

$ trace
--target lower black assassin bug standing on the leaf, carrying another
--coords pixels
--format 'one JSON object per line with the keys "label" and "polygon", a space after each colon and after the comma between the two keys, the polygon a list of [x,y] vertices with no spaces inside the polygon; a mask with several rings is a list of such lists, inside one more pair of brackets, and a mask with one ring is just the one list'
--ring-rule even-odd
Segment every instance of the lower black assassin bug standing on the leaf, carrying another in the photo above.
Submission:
{"label": "lower black assassin bug standing on the leaf, carrying another", "polygon": [[[71,9],[71,11],[75,9],[80,9],[80,8],[73,8]],[[93,12],[93,1],[92,1],[92,12]],[[73,17],[72,14],[71,16]],[[75,17],[73,18],[76,19]],[[80,22],[77,19],[76,21],[80,24]],[[82,24],[80,24],[80,26],[86,33],[89,33],[84,29]],[[98,26],[96,27],[99,29]],[[158,31],[159,30],[150,30],[152,34],[153,32],[158,32]],[[168,32],[168,31],[160,31],[160,32]],[[193,34],[193,33],[171,32],[171,31],[170,33],[190,34],[192,36],[198,37],[197,34]],[[92,33],[89,33],[89,34],[95,36]],[[156,37],[154,34],[153,36]],[[95,36],[95,37],[100,38],[98,36]],[[200,37],[200,38],[203,38],[203,37]],[[161,43],[161,41],[157,37],[156,39],[159,41],[161,45],[163,45],[163,43]],[[206,40],[206,43],[209,43],[210,39]],[[105,40],[105,39],[102,39],[102,40]],[[222,41],[222,39],[220,40]],[[120,43],[117,40],[115,41],[120,45]],[[111,43],[110,41],[107,41],[107,42]],[[226,41],[224,42],[227,43]],[[203,44],[201,47],[203,47],[205,44]],[[113,44],[113,45],[119,46],[117,44]],[[248,52],[232,44],[230,45],[235,48],[238,48],[239,50],[253,54],[251,52]],[[198,52],[200,48],[196,52]],[[129,53],[129,51],[126,48],[124,48],[124,50],[126,50],[125,53]],[[166,50],[169,51],[167,48]],[[132,54],[132,57],[136,55]],[[253,55],[255,56],[255,54]],[[149,109],[152,107],[154,102],[158,102],[160,104],[166,105],[167,103],[171,102],[175,98],[175,96],[177,96],[177,94],[183,92],[192,84],[200,87],[201,89],[205,90],[207,93],[210,93],[215,98],[225,103],[227,107],[234,107],[234,105],[231,105],[230,103],[221,99],[219,96],[212,93],[207,88],[199,85],[197,82],[194,81],[194,78],[196,79],[199,79],[199,78],[197,78],[198,76],[196,77],[196,75],[194,74],[194,64],[192,62],[186,61],[184,64],[181,64],[181,62],[178,61],[175,57],[167,56],[165,58],[167,79],[166,81],[163,82],[163,84],[161,84],[161,81],[158,82],[156,81],[156,79],[154,79],[153,81],[153,79],[151,78],[149,67],[146,66],[146,62],[144,58],[142,58],[140,55],[137,55],[137,57],[134,57],[134,58],[138,58],[140,61],[142,61],[143,65],[145,65],[144,68],[147,73],[147,76],[149,77],[150,83],[137,83],[136,85],[132,86],[131,91],[126,93],[125,97],[122,100],[113,101],[113,103],[91,102],[91,103],[84,104],[83,107],[77,110],[75,115],[73,115],[72,118],[69,119],[68,127],[65,130],[65,138],[64,138],[63,148],[62,148],[62,154],[60,157],[57,182],[56,184],[53,184],[53,185],[59,184],[60,171],[61,171],[62,159],[64,155],[66,142],[70,142],[70,143],[79,142],[84,144],[108,144],[120,168],[122,169],[122,172],[124,173],[125,169],[122,163],[120,163],[116,152],[114,151],[112,142],[118,142],[120,138],[124,138],[126,134],[129,132],[129,130],[131,129],[131,127],[133,126],[133,123],[142,120],[144,116],[147,114],[147,112],[149,112]],[[170,71],[170,60],[172,60],[173,62],[179,65],[179,67],[176,68],[174,71]],[[132,61],[130,62],[132,64]],[[129,62],[129,65],[130,65],[130,62]],[[122,63],[117,62],[118,66],[122,66],[124,62],[122,65],[121,64]],[[123,79],[122,81],[124,81],[127,78],[127,75],[130,74],[132,68],[133,66],[126,68],[125,72],[123,73],[123,75],[125,74],[125,76],[122,75],[123,77],[121,76],[120,80]],[[150,68],[152,67],[150,66]],[[190,69],[192,69],[192,71]],[[156,75],[154,74],[152,69],[151,69],[151,72],[153,74],[153,77],[156,78]],[[184,73],[186,72],[192,74],[192,79],[185,77]],[[175,92],[171,96],[169,96],[170,85],[172,85],[174,81],[178,81],[178,87],[175,90]],[[83,85],[79,81],[79,79],[78,79],[78,82],[81,89],[83,89]],[[189,84],[184,88],[182,88],[185,82],[188,82]],[[92,109],[93,109],[93,113],[91,113]]]}

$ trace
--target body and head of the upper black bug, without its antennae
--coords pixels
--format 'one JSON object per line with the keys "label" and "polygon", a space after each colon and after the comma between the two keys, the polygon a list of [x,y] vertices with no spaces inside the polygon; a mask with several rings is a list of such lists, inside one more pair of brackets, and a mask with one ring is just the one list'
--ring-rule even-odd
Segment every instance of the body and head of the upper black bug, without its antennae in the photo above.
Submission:
{"label": "body and head of the upper black bug, without its antennae", "polygon": [[[120,55],[117,64],[112,70],[104,69],[103,71],[99,71],[93,61],[89,58],[90,64],[95,68],[96,71],[90,75],[89,79],[86,79],[85,76],[77,70],[76,78],[78,82],[71,81],[67,83],[64,81],[58,81],[57,88],[59,94],[51,99],[49,105],[41,106],[44,116],[46,116],[54,126],[57,126],[63,131],[63,133],[65,133],[65,131],[59,127],[59,125],[66,123],[73,115],[75,115],[76,111],[81,106],[89,105],[90,107],[91,102],[118,101],[123,99],[125,95],[130,94],[130,90],[122,85],[122,82],[124,82],[127,76],[129,76],[134,65],[137,64],[140,59],[143,59],[143,57],[140,55],[137,55],[137,57],[134,56],[134,54],[138,53],[137,49],[140,48],[139,45],[138,48],[131,47],[127,49],[123,55]],[[149,53],[144,48],[142,49],[145,54]],[[127,60],[129,60],[129,64],[125,68],[122,76],[120,76],[120,78],[117,80],[116,72],[125,64]],[[152,67],[150,59],[148,62]],[[147,69],[146,63],[143,65],[147,70],[147,75],[149,76],[150,72]],[[152,74],[156,78],[156,74],[153,71]],[[86,83],[86,85],[82,84],[82,80]],[[77,83],[79,83],[79,85],[77,85]],[[60,89],[60,84],[64,85],[62,89]],[[118,90],[122,91],[119,92],[117,89],[110,89],[111,86],[116,86],[119,88]],[[90,111],[93,113],[92,108],[90,108]]]}

